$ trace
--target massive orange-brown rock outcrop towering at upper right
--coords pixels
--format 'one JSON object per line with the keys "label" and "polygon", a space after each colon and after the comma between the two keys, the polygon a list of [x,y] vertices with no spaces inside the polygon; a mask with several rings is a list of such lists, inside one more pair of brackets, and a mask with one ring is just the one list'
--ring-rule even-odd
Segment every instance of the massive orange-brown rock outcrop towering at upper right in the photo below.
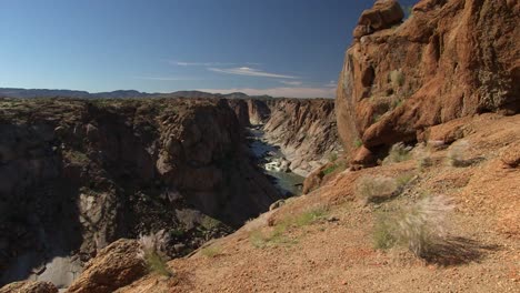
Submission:
{"label": "massive orange-brown rock outcrop towering at upper right", "polygon": [[349,152],[363,143],[360,162],[431,125],[520,110],[519,1],[422,0],[402,17],[377,1],[346,53],[338,129]]}

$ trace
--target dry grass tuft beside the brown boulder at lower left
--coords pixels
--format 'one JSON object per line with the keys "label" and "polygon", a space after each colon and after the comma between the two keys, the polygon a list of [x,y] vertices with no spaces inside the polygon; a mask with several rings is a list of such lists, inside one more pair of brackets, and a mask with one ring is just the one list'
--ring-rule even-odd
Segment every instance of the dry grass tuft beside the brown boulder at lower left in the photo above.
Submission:
{"label": "dry grass tuft beside the brown boulder at lower left", "polygon": [[166,254],[163,252],[164,238],[160,233],[139,236],[138,257],[144,261],[150,272],[156,272],[164,276],[172,276],[173,273],[168,269]]}

